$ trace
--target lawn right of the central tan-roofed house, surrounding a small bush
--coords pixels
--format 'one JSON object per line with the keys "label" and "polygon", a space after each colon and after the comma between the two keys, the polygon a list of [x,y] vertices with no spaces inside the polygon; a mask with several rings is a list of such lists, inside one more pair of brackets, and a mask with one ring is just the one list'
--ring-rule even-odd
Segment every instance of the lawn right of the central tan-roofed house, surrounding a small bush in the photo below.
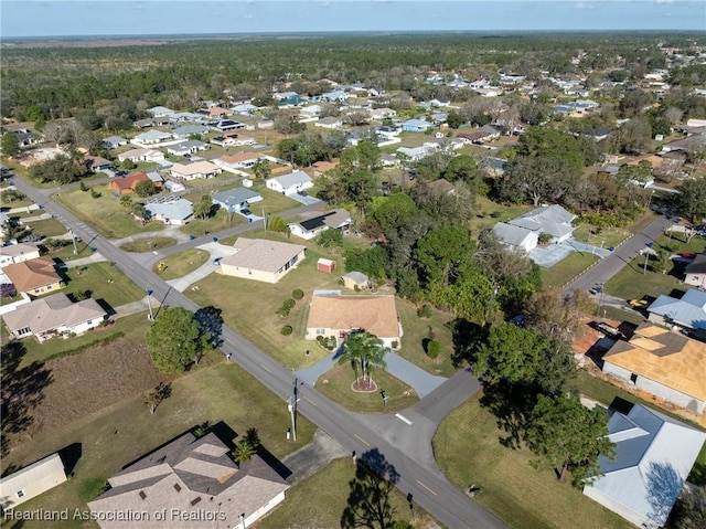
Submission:
{"label": "lawn right of the central tan-roofed house, surrounding a small bush", "polygon": [[[419,318],[417,316],[417,307],[414,304],[399,298],[396,299],[396,304],[404,331],[402,347],[397,351],[399,356],[431,374],[451,377],[456,372],[451,363],[453,340],[451,339],[451,331],[446,327],[446,324],[452,320],[453,317],[432,309],[431,318]],[[443,350],[437,359],[429,358],[422,346],[422,340],[429,338],[429,327],[434,331],[435,340],[443,345]]]}

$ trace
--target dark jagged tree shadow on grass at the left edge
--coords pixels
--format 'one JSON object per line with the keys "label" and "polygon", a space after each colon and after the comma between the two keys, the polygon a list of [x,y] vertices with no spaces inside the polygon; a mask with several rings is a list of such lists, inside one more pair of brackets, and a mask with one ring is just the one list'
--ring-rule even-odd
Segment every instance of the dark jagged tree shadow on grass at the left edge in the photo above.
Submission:
{"label": "dark jagged tree shadow on grass at the left edge", "polygon": [[26,355],[26,348],[21,341],[11,341],[1,351],[0,455],[7,455],[17,435],[32,425],[34,422],[32,411],[44,400],[44,390],[53,381],[52,372],[44,363],[34,362],[19,369],[24,355]]}

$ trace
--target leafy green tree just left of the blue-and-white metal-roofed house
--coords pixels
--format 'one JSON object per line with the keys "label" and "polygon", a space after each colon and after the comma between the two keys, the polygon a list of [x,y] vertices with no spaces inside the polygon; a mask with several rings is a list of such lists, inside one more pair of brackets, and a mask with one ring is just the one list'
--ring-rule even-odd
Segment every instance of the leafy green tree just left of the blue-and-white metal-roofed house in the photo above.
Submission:
{"label": "leafy green tree just left of the blue-and-white metal-roofed house", "polygon": [[530,448],[550,465],[559,482],[569,470],[576,485],[600,470],[598,456],[614,456],[608,438],[608,413],[586,408],[578,396],[539,395],[526,429]]}

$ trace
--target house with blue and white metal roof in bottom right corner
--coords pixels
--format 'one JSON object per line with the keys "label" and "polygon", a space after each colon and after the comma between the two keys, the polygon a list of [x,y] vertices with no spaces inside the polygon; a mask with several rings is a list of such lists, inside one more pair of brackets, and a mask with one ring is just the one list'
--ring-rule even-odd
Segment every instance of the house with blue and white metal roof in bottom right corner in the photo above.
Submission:
{"label": "house with blue and white metal roof in bottom right corner", "polygon": [[584,494],[641,528],[664,526],[706,433],[642,404],[608,421],[616,458],[600,456],[600,476]]}

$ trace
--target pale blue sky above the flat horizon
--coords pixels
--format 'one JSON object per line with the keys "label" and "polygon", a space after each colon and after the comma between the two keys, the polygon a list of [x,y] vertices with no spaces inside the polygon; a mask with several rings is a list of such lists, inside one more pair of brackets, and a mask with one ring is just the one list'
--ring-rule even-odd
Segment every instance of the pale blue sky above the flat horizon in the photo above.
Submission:
{"label": "pale blue sky above the flat horizon", "polygon": [[706,31],[698,0],[2,0],[2,39],[323,31]]}

